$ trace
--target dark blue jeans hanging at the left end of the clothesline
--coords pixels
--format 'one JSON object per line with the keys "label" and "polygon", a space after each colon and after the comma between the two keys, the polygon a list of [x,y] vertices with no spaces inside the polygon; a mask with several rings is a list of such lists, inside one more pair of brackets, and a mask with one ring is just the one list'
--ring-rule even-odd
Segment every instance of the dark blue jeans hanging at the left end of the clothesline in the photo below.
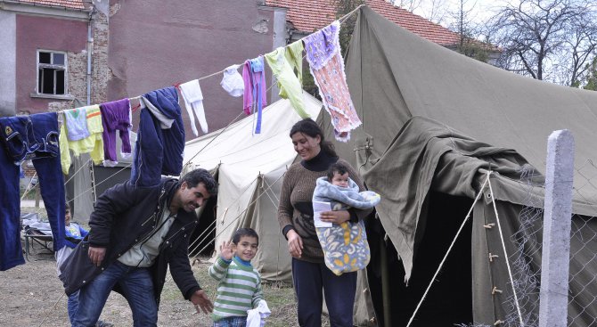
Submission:
{"label": "dark blue jeans hanging at the left end of the clothesline", "polygon": [[25,263],[20,248],[19,166],[31,159],[52,227],[53,249],[64,246],[64,176],[55,112],[0,118],[0,270]]}

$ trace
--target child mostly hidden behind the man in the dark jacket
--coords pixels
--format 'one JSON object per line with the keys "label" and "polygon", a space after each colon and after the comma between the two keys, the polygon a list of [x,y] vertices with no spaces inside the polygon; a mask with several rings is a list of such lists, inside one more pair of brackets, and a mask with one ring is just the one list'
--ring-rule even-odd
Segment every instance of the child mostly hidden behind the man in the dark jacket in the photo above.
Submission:
{"label": "child mostly hidden behind the man in the dark jacket", "polygon": [[[69,258],[70,253],[72,253],[72,251],[75,248],[77,248],[77,244],[81,240],[83,240],[89,233],[86,231],[85,228],[81,227],[81,225],[78,225],[77,223],[70,221],[71,218],[72,218],[72,215],[70,214],[70,206],[69,206],[69,203],[67,203],[65,210],[64,210],[64,230],[65,230],[64,247],[62,249],[59,249],[56,252],[56,267],[58,270],[58,275],[61,274],[60,266],[62,265],[64,260],[66,260],[66,258]],[[75,313],[77,312],[77,307],[78,307],[78,291],[70,294],[69,299],[67,300],[67,310],[69,312],[70,323],[73,322],[73,317],[75,316]],[[110,327],[110,326],[113,326],[113,324],[105,323],[100,320],[95,324],[95,326],[96,327]]]}

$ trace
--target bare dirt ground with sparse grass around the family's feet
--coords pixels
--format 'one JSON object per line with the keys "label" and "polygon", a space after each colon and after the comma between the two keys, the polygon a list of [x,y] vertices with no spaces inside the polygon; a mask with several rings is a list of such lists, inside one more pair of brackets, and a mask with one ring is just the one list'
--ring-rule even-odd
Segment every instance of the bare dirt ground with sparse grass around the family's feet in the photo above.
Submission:
{"label": "bare dirt ground with sparse grass around the family's feet", "polygon": [[[24,248],[24,245],[23,245]],[[192,269],[210,298],[216,284],[207,274],[209,262],[203,258]],[[272,315],[268,326],[297,326],[294,292],[289,287],[265,285],[264,293]],[[69,326],[67,297],[56,274],[53,254],[39,245],[31,250],[25,265],[0,272],[0,326]],[[131,311],[125,298],[112,292],[101,318],[114,326],[132,326]],[[159,326],[211,326],[209,315],[197,314],[184,300],[176,284],[167,279],[159,306]],[[327,323],[326,323],[327,324]]]}

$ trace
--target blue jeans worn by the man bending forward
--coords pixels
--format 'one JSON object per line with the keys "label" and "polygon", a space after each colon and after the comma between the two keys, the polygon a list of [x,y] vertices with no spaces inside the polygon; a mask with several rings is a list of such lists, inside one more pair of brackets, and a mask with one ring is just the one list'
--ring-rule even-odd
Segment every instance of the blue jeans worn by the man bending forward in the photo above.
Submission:
{"label": "blue jeans worn by the man bending forward", "polygon": [[117,283],[133,312],[133,325],[157,326],[158,305],[154,299],[149,268],[135,268],[114,261],[102,274],[78,291],[78,309],[72,327],[95,326],[110,291]]}

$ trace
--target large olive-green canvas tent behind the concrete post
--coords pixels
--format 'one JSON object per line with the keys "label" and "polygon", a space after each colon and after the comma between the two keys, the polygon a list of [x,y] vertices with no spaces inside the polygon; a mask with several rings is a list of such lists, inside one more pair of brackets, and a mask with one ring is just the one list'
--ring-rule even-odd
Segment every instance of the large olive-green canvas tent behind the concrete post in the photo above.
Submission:
{"label": "large olive-green canvas tent behind the concrete post", "polygon": [[[373,254],[362,281],[375,322],[408,322],[471,209],[412,326],[518,326],[520,318],[536,325],[547,137],[568,129],[576,138],[577,235],[568,322],[591,325],[597,317],[597,219],[591,219],[597,216],[591,180],[597,173],[597,93],[472,60],[368,7],[360,9],[346,70],[363,125],[337,150],[382,198],[378,218],[368,225]],[[333,138],[329,116],[319,121]],[[492,187],[481,190],[487,178]],[[363,309],[365,298],[356,304],[358,323],[372,317]]]}

